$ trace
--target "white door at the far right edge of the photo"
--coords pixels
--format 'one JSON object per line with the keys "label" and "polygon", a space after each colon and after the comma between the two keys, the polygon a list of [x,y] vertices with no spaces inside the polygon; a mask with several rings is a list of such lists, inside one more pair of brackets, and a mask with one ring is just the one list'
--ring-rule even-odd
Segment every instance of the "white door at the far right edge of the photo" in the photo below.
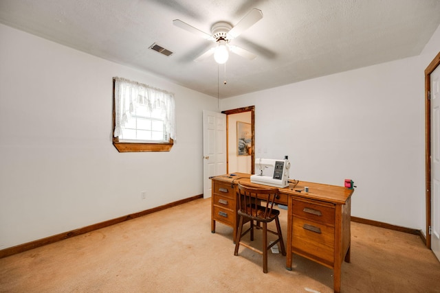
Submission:
{"label": "white door at the far right edge of the photo", "polygon": [[431,249],[440,260],[440,67],[431,73]]}

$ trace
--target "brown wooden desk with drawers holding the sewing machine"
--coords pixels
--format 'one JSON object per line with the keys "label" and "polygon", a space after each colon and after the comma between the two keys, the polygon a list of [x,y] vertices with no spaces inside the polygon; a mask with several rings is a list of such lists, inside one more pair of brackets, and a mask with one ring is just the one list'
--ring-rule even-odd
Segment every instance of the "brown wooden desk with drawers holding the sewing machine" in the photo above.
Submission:
{"label": "brown wooden desk with drawers holding the sewing machine", "polygon": [[[212,177],[211,231],[221,222],[234,229],[239,217],[236,185],[250,183],[250,174],[234,173]],[[304,187],[309,192],[304,192]],[[302,189],[301,192],[296,190]],[[280,188],[278,204],[287,206],[286,268],[292,270],[292,253],[333,269],[333,289],[340,292],[341,265],[350,262],[350,216],[353,189],[299,181]]]}

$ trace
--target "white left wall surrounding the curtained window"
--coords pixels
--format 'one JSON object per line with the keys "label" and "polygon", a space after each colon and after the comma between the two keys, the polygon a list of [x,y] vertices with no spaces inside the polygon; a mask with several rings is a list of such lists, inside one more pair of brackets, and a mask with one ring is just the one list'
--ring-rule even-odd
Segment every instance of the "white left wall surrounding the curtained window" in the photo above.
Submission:
{"label": "white left wall surrounding the curtained window", "polygon": [[[0,39],[0,249],[203,193],[217,99],[5,25]],[[175,93],[170,152],[113,147],[114,76]]]}

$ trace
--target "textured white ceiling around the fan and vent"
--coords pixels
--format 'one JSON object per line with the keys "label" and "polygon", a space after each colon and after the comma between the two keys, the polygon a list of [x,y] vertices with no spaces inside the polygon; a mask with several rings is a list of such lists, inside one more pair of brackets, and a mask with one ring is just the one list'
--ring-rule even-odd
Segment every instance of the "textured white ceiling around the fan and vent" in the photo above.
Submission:
{"label": "textured white ceiling around the fan and vent", "polygon": [[[210,33],[252,8],[263,19],[231,43],[257,58],[231,54],[225,67],[212,57],[195,62],[214,43],[173,25]],[[417,56],[440,25],[440,0],[0,0],[0,23],[232,97]],[[174,54],[148,49],[153,43]]]}

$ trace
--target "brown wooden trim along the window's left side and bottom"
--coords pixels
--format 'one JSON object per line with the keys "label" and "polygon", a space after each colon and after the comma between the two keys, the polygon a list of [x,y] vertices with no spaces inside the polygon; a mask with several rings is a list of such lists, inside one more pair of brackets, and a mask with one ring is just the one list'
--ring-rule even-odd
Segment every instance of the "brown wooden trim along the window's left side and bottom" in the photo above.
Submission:
{"label": "brown wooden trim along the window's left side and bottom", "polygon": [[[115,79],[113,78],[113,132],[115,132]],[[113,134],[112,134],[113,137]],[[173,148],[174,141],[168,143],[129,143],[120,142],[118,137],[113,137],[113,145],[118,152],[169,152]]]}

